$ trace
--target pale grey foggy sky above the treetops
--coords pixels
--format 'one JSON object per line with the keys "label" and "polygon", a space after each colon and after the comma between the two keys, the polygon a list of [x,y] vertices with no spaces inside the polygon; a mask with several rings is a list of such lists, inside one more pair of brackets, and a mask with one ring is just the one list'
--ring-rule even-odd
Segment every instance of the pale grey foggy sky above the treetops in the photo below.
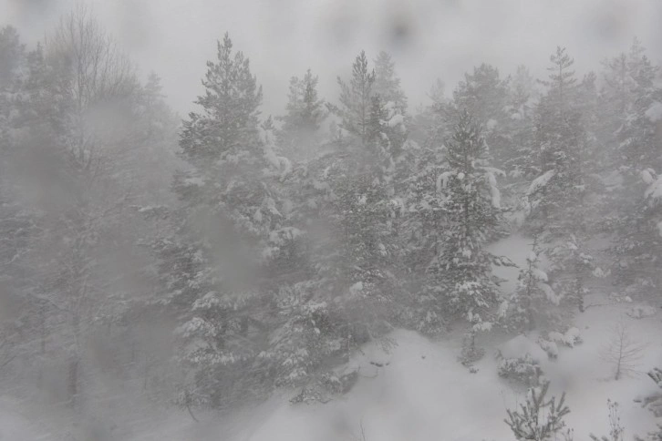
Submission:
{"label": "pale grey foggy sky above the treetops", "polygon": [[[0,0],[0,26],[29,44],[76,0]],[[289,77],[311,67],[335,102],[361,49],[385,49],[414,107],[437,77],[447,93],[481,62],[502,74],[525,64],[544,76],[555,46],[567,46],[578,73],[626,50],[633,36],[662,61],[662,0],[87,0],[146,76],[163,79],[185,114],[202,92],[205,61],[227,30],[251,58],[264,87],[264,114],[283,113]]]}

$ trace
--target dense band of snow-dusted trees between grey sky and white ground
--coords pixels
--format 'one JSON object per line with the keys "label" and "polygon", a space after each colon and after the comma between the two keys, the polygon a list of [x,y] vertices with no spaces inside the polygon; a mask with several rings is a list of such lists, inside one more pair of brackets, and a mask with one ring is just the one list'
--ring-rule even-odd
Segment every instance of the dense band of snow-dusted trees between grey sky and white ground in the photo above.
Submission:
{"label": "dense band of snow-dusted trees between grey sky and white ground", "polygon": [[[182,121],[84,9],[34,47],[6,26],[1,380],[74,409],[99,373],[191,415],[326,402],[397,328],[461,329],[471,366],[486,334],[564,333],[589,292],[659,302],[662,71],[636,39],[595,72],[540,56],[547,77],[482,64],[410,108],[361,52],[336,96],[295,73],[267,118],[225,35]],[[503,292],[489,245],[512,234]]]}

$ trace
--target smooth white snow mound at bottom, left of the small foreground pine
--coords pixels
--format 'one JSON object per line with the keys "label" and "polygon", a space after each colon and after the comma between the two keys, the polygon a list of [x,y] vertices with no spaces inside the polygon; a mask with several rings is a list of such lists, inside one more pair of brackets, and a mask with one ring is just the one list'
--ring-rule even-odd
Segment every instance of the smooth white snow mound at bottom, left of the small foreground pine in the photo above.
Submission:
{"label": "smooth white snow mound at bottom, left of the small foreground pine", "polygon": [[[361,439],[361,426],[367,441],[512,439],[491,357],[477,364],[484,374],[471,374],[458,363],[456,346],[405,331],[393,338],[398,345],[390,354],[373,347],[357,357],[361,378],[347,397],[326,405],[284,403],[233,441]],[[383,367],[369,364],[378,354]]]}

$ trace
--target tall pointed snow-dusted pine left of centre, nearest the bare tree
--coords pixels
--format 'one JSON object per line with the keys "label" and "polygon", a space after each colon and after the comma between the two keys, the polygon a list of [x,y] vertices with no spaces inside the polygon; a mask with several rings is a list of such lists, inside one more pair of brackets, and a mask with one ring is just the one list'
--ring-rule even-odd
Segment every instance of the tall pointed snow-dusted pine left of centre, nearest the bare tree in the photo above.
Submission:
{"label": "tall pointed snow-dusted pine left of centre, nearest the bare tree", "polygon": [[269,388],[258,358],[274,319],[268,270],[295,236],[274,185],[286,161],[260,136],[262,88],[230,36],[217,48],[196,101],[202,112],[191,112],[181,133],[190,167],[174,180],[175,234],[155,244],[163,282],[156,300],[180,323],[182,396],[212,406]]}

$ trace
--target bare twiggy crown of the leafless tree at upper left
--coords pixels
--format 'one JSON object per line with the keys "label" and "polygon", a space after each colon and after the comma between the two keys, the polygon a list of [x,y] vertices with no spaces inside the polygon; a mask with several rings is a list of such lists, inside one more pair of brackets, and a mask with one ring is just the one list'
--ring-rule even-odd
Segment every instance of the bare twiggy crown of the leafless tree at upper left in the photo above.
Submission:
{"label": "bare twiggy crown of the leafless tree at upper left", "polygon": [[84,4],[63,16],[47,37],[47,63],[70,104],[67,144],[78,165],[98,168],[99,147],[118,137],[115,122],[138,90],[135,68]]}

